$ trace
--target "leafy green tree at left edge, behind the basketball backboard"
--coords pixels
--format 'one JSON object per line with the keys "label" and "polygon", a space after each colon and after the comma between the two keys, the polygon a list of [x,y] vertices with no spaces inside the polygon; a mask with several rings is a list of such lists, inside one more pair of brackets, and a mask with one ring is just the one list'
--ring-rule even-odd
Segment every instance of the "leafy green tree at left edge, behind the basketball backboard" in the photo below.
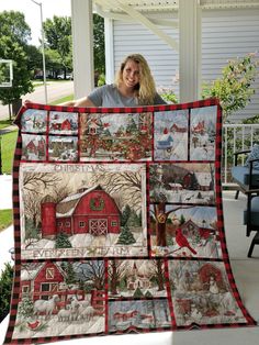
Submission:
{"label": "leafy green tree at left edge, behind the basketball backboard", "polygon": [[12,87],[0,89],[0,100],[3,105],[9,104],[10,119],[10,104],[20,99],[22,94],[33,91],[25,52],[30,35],[31,30],[22,13],[14,11],[0,13],[0,56],[3,59],[13,60]]}

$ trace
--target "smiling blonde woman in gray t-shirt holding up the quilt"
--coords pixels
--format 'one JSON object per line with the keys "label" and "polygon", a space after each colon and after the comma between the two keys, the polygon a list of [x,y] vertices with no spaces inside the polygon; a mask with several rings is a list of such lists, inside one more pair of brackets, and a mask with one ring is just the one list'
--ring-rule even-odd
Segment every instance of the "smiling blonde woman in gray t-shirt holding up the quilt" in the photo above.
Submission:
{"label": "smiling blonde woman in gray t-shirt holding up the quilt", "polygon": [[151,104],[167,103],[156,91],[146,59],[140,54],[132,54],[121,64],[114,84],[99,87],[88,97],[61,105],[108,108]]}

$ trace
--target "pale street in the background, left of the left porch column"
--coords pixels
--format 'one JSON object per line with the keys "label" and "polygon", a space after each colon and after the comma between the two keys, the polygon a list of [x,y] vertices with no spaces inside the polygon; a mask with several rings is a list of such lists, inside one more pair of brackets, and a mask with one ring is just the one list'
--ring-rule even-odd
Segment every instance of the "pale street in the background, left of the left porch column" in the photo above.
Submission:
{"label": "pale street in the background, left of the left porch column", "polygon": [[[74,81],[48,81],[47,82],[47,102],[53,102],[59,98],[66,97],[74,93]],[[45,104],[45,92],[44,86],[35,87],[32,93],[26,93],[21,97],[22,100],[30,100],[35,103]],[[5,120],[9,118],[8,105],[0,104],[0,120]]]}

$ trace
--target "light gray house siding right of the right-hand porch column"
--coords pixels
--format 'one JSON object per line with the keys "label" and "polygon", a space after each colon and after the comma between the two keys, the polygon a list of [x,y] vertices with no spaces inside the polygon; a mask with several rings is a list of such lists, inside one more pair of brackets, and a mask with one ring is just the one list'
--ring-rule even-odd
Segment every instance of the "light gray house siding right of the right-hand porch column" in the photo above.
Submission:
{"label": "light gray house siding right of the right-hand porch column", "polygon": [[[255,53],[259,47],[259,9],[210,10],[202,15],[202,80],[210,82],[221,76],[228,59]],[[229,119],[243,119],[259,113],[259,78],[256,94],[247,107]]]}

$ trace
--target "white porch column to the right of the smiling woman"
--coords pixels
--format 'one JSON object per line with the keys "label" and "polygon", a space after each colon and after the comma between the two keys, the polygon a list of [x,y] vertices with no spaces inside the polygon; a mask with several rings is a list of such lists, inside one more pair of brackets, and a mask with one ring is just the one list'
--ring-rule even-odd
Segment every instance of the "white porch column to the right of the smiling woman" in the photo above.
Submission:
{"label": "white porch column to the right of the smiling woman", "polygon": [[179,1],[180,102],[201,98],[201,8],[200,0]]}

